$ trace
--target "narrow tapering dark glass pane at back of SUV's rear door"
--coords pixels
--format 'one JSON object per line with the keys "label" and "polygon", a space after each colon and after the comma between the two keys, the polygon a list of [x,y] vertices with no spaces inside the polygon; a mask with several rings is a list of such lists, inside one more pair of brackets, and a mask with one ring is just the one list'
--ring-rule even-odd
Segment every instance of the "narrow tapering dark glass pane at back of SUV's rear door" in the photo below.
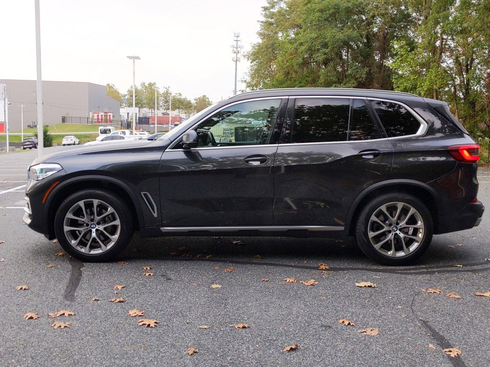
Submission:
{"label": "narrow tapering dark glass pane at back of SUV's rear door", "polygon": [[349,122],[349,140],[382,138],[378,126],[369,113],[364,99],[353,99]]}

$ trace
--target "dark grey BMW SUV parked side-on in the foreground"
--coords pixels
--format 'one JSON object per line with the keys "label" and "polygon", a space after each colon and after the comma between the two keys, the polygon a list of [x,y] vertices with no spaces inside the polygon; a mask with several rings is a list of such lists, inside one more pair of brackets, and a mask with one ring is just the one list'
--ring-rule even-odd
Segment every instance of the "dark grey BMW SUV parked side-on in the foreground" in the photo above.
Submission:
{"label": "dark grey BMW SUV parked side-on in the foreground", "polygon": [[24,221],[83,261],[147,236],[354,236],[407,264],[480,223],[478,149],[447,103],[403,92],[246,92],[155,140],[43,156]]}

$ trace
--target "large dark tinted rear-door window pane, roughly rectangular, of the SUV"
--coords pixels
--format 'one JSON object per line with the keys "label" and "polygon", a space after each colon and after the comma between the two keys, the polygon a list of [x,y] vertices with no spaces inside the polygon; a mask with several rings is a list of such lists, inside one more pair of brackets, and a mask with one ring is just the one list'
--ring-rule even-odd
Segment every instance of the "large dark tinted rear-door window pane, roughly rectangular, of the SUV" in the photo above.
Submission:
{"label": "large dark tinted rear-door window pane, roughly rectangular, of the SUV", "polygon": [[348,98],[297,98],[292,143],[347,140]]}

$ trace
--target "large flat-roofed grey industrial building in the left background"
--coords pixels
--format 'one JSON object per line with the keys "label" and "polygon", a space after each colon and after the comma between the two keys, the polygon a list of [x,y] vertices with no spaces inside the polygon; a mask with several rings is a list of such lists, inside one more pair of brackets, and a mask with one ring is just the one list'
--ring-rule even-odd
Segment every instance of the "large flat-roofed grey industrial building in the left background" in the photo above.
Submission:
{"label": "large flat-roofed grey industrial building in the left background", "polygon": [[[24,127],[37,124],[36,81],[0,79],[5,84],[8,97],[9,131],[21,129],[21,108],[24,104]],[[3,93],[3,86],[2,91]],[[91,118],[94,114],[112,112],[119,119],[119,101],[107,95],[104,85],[87,82],[43,81],[43,115],[44,123],[54,125],[61,123],[62,116]],[[0,106],[3,122],[3,106]]]}

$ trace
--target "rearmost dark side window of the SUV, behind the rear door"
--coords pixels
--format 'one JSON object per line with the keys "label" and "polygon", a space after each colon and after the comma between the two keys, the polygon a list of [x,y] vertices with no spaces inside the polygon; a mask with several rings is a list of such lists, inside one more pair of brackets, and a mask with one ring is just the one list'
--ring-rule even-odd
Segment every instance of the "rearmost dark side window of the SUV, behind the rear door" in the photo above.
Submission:
{"label": "rearmost dark side window of the SUV, behind the rear door", "polygon": [[388,138],[417,134],[420,122],[398,103],[371,101]]}

